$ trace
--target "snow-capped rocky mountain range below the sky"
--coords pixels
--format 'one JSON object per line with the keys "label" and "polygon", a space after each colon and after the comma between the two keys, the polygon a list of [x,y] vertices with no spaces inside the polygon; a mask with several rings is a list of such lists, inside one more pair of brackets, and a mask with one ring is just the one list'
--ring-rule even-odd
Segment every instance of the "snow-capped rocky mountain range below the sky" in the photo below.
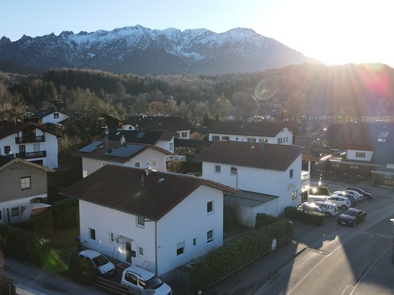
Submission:
{"label": "snow-capped rocky mountain range below the sky", "polygon": [[250,29],[150,30],[142,26],[37,38],[0,39],[0,61],[40,71],[84,68],[147,74],[257,72],[295,63],[317,63]]}

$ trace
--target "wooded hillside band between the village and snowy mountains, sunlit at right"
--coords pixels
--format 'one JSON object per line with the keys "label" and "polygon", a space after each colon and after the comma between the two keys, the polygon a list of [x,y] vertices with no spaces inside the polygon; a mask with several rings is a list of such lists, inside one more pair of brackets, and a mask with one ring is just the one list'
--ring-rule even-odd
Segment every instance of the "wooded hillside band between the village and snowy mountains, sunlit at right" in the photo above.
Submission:
{"label": "wooded hillside band between the village and snowy mountains, sunlit at right", "polygon": [[[228,115],[280,118],[330,116],[335,121],[392,121],[394,69],[381,63],[298,64],[224,75],[136,76],[96,70],[50,69],[42,74],[0,72],[0,114],[23,119],[50,107],[71,116],[70,132],[97,130],[108,114],[182,116],[196,126]],[[82,126],[82,127],[81,127]],[[87,134],[89,135],[89,134]]]}

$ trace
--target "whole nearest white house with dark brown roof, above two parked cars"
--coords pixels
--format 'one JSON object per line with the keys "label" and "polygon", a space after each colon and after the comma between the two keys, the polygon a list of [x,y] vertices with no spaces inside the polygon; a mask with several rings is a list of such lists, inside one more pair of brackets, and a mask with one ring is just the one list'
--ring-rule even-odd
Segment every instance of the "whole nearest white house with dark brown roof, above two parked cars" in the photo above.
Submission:
{"label": "whole nearest white house with dark brown roof, above two parked cars", "polygon": [[61,192],[78,198],[81,242],[169,277],[223,243],[223,194],[214,181],[107,164]]}

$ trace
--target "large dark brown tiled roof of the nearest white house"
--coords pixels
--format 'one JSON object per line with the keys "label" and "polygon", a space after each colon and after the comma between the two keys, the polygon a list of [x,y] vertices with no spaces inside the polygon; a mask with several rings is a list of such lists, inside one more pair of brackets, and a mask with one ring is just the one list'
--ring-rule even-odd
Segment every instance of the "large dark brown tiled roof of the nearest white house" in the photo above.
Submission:
{"label": "large dark brown tiled roof of the nearest white house", "polygon": [[240,192],[200,177],[158,171],[151,171],[147,175],[144,169],[107,164],[60,193],[128,214],[159,220],[202,185],[228,193]]}

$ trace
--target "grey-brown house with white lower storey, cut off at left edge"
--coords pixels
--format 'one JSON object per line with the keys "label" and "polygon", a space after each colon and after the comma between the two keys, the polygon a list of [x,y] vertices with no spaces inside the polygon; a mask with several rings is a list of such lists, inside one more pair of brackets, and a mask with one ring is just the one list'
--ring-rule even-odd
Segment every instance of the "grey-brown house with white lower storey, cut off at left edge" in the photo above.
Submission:
{"label": "grey-brown house with white lower storey, cut off at left edge", "polygon": [[0,156],[0,224],[28,220],[47,201],[47,172],[55,171],[14,156]]}

